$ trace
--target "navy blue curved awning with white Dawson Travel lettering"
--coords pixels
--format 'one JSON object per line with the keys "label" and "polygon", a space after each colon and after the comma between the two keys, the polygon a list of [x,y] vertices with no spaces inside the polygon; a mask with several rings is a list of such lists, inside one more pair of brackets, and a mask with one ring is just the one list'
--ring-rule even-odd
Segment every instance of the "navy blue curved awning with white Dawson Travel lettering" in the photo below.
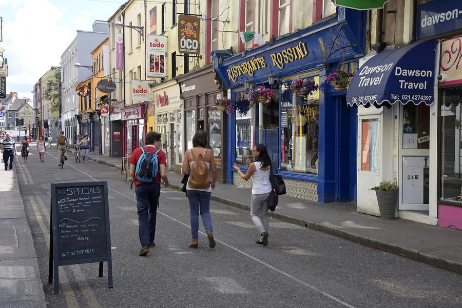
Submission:
{"label": "navy blue curved awning with white Dawson Travel lettering", "polygon": [[433,104],[436,41],[427,40],[377,54],[356,72],[348,106]]}

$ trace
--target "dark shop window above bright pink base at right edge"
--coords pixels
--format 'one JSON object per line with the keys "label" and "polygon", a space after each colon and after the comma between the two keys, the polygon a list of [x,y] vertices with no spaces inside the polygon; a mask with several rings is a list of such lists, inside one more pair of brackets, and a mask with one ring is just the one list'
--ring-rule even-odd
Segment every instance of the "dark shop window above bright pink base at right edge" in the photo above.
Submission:
{"label": "dark shop window above bright pink base at right edge", "polygon": [[462,87],[439,93],[440,199],[462,204]]}

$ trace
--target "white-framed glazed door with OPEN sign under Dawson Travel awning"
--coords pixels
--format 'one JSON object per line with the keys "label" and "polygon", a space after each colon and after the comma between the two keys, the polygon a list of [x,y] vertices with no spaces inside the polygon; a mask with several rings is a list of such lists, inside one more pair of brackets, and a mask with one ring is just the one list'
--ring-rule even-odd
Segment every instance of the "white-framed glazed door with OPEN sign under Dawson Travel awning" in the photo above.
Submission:
{"label": "white-framed glazed door with OPEN sign under Dawson Travel awning", "polygon": [[429,214],[430,106],[399,106],[399,210]]}

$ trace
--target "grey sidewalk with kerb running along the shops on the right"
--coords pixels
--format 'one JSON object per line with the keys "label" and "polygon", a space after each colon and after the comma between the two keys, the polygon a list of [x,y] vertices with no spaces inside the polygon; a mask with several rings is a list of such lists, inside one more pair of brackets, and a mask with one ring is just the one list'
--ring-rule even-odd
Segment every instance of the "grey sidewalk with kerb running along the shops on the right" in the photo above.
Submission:
{"label": "grey sidewalk with kerb running along the shops on the right", "polygon": [[[121,168],[121,158],[90,153],[90,159]],[[168,178],[171,188],[181,189],[182,175],[169,173]],[[217,183],[212,199],[250,210],[251,194],[247,188]],[[460,230],[398,218],[381,220],[356,212],[350,203],[317,203],[286,195],[279,197],[271,216],[462,274]]]}

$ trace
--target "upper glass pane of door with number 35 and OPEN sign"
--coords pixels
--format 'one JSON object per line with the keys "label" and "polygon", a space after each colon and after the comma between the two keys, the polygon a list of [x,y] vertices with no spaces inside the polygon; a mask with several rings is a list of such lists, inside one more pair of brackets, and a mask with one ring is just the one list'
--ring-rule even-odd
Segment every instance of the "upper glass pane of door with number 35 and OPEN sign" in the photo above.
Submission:
{"label": "upper glass pane of door with number 35 and OPEN sign", "polygon": [[402,148],[430,149],[430,106],[407,104],[402,110]]}

